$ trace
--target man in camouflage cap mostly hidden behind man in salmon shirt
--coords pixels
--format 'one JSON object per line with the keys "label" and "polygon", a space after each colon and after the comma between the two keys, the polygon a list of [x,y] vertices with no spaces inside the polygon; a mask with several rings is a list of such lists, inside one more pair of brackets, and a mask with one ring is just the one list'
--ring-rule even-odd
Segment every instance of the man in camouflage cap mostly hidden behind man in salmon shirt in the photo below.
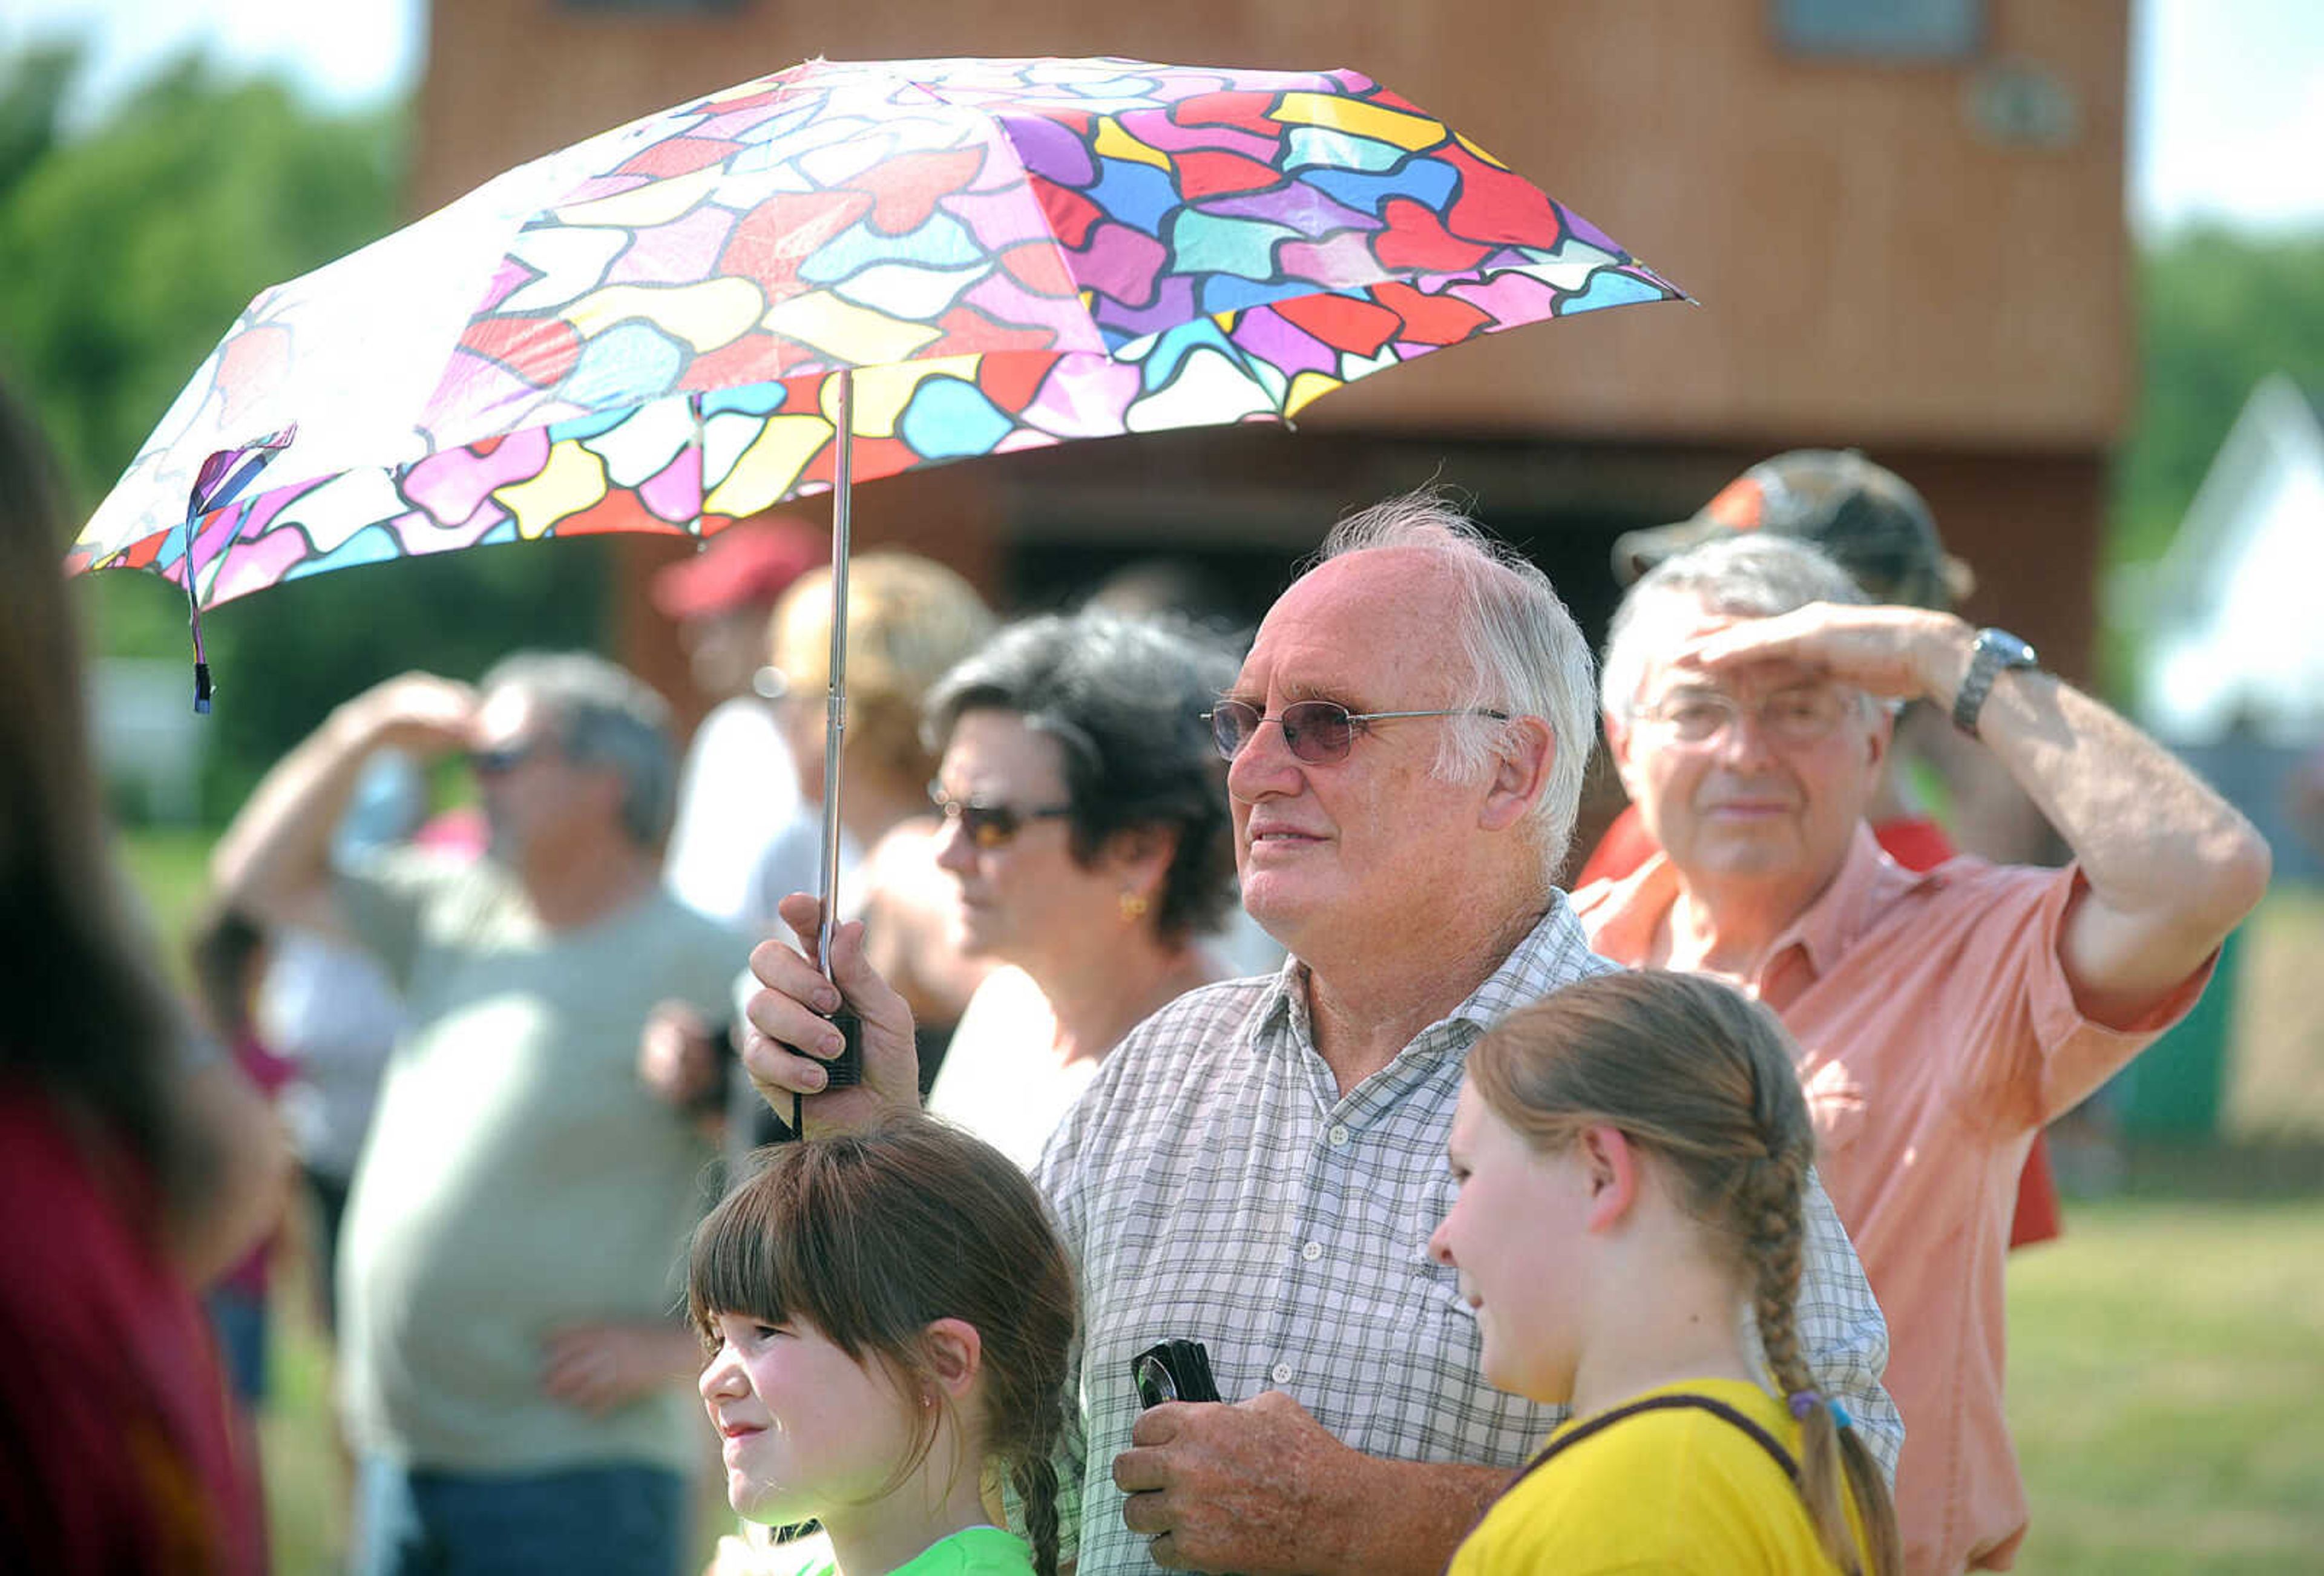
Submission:
{"label": "man in camouflage cap mostly hidden behind man in salmon shirt", "polygon": [[[1629,586],[1673,553],[1752,530],[1808,542],[1848,569],[1848,579],[1873,602],[1950,614],[1975,586],[1968,565],[1945,551],[1936,516],[1913,483],[1855,449],[1792,449],[1759,460],[1720,488],[1694,518],[1622,532],[1613,544],[1613,572]],[[1910,751],[1920,721],[1924,718],[1896,718],[1899,753]],[[1943,718],[1936,718],[1936,728],[1950,732]],[[1936,869],[1957,848],[1945,828],[1906,797],[1894,762],[1896,755],[1889,755],[1866,809],[1873,839],[1906,869]],[[1592,881],[1620,881],[1655,853],[1652,832],[1638,818],[1638,807],[1629,804],[1599,837],[1571,886],[1580,890]],[[2036,1134],[2017,1183],[2010,1246],[2052,1241],[2061,1225],[2050,1146]]]}

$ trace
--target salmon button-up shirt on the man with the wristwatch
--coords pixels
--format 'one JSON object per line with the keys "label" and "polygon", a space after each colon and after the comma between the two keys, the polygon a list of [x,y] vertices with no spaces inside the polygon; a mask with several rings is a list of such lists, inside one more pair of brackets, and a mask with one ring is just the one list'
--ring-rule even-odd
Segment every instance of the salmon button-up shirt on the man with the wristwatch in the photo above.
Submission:
{"label": "salmon button-up shirt on the man with the wristwatch", "polygon": [[[1857,828],[1745,988],[1799,1041],[1815,1169],[1887,1311],[1908,1571],[2008,1569],[2027,1527],[2001,1411],[2017,1176],[2033,1132],[2182,1018],[2212,972],[2136,1023],[2085,1018],[2061,951],[2085,886],[2073,865],[1901,869]],[[1604,958],[1638,965],[1676,902],[1662,855],[1573,893],[1573,916]]]}

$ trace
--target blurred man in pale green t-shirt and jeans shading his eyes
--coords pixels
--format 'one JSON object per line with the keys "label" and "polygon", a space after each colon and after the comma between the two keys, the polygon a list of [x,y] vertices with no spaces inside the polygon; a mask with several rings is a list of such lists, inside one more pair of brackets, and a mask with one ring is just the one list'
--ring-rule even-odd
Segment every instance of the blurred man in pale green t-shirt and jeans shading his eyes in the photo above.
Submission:
{"label": "blurred man in pale green t-shirt and jeans shading his eyes", "polygon": [[[490,858],[335,869],[381,748],[467,751]],[[409,1009],[342,1246],[358,1576],[679,1567],[697,1353],[672,1297],[711,1151],[634,1062],[655,1002],[716,1011],[741,939],[662,888],[674,783],[653,690],[525,653],[481,690],[344,702],[214,853],[225,900],[370,946]]]}

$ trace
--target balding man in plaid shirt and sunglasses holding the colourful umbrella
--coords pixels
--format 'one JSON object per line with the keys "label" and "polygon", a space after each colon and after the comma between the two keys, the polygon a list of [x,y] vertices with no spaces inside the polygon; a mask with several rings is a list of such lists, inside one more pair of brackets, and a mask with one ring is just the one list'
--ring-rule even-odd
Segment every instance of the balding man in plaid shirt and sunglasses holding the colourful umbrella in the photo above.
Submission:
{"label": "balding man in plaid shirt and sunglasses holding the colourful umbrella", "polygon": [[[1281,974],[1129,1032],[1034,1176],[1083,1285],[1057,1469],[1078,1569],[1441,1571],[1559,1411],[1492,1390],[1427,1239],[1487,1025],[1606,972],[1552,883],[1592,744],[1590,653],[1538,567],[1429,497],[1339,525],[1211,711],[1243,902]],[[811,897],[786,900],[811,934]],[[911,1020],[832,944],[837,990],[767,941],[744,1060],[809,1125],[913,1102]],[[865,1083],[825,1088],[865,1020]],[[1894,1457],[1885,1325],[1822,1192],[1801,1290],[1817,1383]],[[1132,1357],[1208,1346],[1227,1406],[1139,1411]],[[1127,1502],[1116,1490],[1127,1492]]]}

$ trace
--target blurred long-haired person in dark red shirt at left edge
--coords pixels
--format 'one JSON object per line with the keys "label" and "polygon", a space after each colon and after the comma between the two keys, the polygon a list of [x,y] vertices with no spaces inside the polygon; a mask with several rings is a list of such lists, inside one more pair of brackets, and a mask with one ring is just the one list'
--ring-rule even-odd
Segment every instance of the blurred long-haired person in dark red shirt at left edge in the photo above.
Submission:
{"label": "blurred long-haired person in dark red shirt at left edge", "polygon": [[288,1148],[198,1041],[105,839],[46,446],[0,386],[0,1550],[42,1574],[258,1571],[195,1288]]}

